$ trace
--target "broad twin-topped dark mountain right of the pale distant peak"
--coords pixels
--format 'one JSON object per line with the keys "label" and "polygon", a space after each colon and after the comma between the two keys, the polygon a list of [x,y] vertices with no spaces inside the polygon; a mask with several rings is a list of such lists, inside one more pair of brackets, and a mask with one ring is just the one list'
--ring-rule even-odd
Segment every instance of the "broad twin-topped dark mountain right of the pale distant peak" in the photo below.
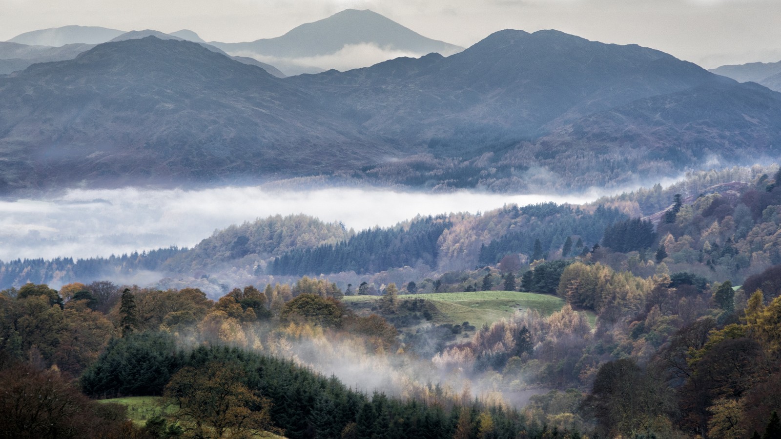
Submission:
{"label": "broad twin-topped dark mountain right of the pale distant peak", "polygon": [[726,79],[637,45],[501,30],[447,58],[394,59],[290,80],[358,109],[370,130],[420,145],[469,128],[533,138],[586,114]]}

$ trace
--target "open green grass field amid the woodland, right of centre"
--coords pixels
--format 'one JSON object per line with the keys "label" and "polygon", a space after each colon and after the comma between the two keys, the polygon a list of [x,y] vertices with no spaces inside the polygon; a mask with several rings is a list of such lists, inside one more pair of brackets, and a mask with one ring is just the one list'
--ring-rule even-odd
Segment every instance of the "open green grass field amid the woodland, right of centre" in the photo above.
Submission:
{"label": "open green grass field amid the woodland, right of centre", "polygon": [[[345,296],[343,301],[358,305],[379,298],[380,296]],[[523,309],[536,309],[544,316],[550,316],[564,306],[562,298],[519,291],[404,294],[398,298],[400,300],[419,298],[433,304],[437,309],[434,323],[469,322],[476,327],[482,327],[483,324],[490,325],[499,319],[508,319],[516,311]]]}

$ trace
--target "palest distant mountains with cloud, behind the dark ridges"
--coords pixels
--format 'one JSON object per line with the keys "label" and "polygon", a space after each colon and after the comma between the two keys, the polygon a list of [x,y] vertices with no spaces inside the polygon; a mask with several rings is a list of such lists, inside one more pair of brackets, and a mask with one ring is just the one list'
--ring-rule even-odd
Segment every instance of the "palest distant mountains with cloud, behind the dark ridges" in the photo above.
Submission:
{"label": "palest distant mountains with cloud, behind the dark ridges", "polygon": [[[0,42],[0,73],[23,70],[35,62],[73,59],[78,53],[95,45],[152,32],[125,32],[94,26],[33,30],[7,42]],[[419,57],[431,52],[451,55],[464,49],[423,37],[376,12],[356,9],[345,9],[323,20],[301,24],[280,37],[248,42],[212,41],[207,44],[198,34],[187,29],[169,34],[155,32],[154,35],[200,43],[209,50],[234,55],[241,62],[261,62],[264,69],[278,77],[285,74],[320,73],[332,68],[348,70],[371,66],[401,55]],[[23,50],[20,49],[22,47]],[[23,56],[19,56],[20,52],[24,52]],[[273,70],[266,68],[269,62],[285,74],[276,67]]]}

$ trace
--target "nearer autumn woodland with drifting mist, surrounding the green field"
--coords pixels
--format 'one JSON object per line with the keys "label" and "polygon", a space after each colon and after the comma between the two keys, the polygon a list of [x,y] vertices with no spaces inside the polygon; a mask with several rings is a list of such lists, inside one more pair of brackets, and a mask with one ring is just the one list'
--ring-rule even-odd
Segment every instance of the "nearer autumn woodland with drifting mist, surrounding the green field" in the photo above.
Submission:
{"label": "nearer autumn woodland with drifting mist, surrounding the green field", "polygon": [[[426,324],[427,299],[399,298],[392,283],[360,312],[341,298],[366,294],[363,286],[343,291],[308,277],[235,288],[216,302],[197,288],[105,281],[7,289],[0,292],[0,374],[14,384],[2,398],[4,431],[773,437],[781,410],[781,266],[735,289],[729,280],[670,273],[663,262],[647,277],[613,269],[595,260],[600,252],[518,273],[521,290],[562,298],[558,311],[520,309],[480,328]],[[474,279],[501,294],[511,276],[480,269],[432,287]],[[79,424],[68,412],[32,416],[42,402],[26,395],[41,391],[79,410]],[[224,411],[205,411],[209,400],[199,398],[218,394],[231,395]],[[172,409],[141,428],[123,420],[123,406],[84,395],[162,396]]]}

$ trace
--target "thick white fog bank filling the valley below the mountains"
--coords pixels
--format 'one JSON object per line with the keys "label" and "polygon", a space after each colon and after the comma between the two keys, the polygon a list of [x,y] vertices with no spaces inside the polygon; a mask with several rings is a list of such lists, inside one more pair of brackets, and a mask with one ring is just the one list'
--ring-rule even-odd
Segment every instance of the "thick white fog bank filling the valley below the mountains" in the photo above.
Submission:
{"label": "thick white fog bank filling the valley below the mountains", "polygon": [[305,213],[361,230],[418,214],[482,212],[505,204],[584,203],[599,195],[427,194],[326,188],[269,191],[219,187],[198,191],[72,190],[59,198],[0,202],[0,260],[89,258],[192,247],[216,229],[270,215]]}

